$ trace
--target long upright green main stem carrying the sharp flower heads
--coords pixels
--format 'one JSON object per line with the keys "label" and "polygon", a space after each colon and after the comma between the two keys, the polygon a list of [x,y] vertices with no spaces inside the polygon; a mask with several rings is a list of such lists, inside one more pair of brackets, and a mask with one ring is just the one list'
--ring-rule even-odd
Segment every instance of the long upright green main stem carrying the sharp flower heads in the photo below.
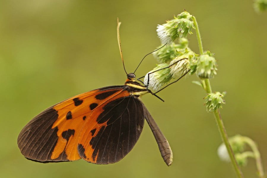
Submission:
{"label": "long upright green main stem carrying the sharp flower heads", "polygon": [[[197,36],[197,39],[198,39],[198,47],[199,47],[199,52],[200,54],[204,54],[204,51],[203,51],[203,45],[202,45],[202,41],[201,41],[201,36],[200,36],[200,31],[199,31],[199,28],[198,28],[198,23],[196,21],[196,17],[193,16],[192,17],[192,20],[193,20],[193,23],[194,23],[194,26],[196,28],[196,36]],[[205,85],[206,85],[206,92],[207,93],[212,93],[212,88],[211,88],[211,85],[210,85],[210,82],[209,82],[209,79],[204,79],[204,82],[205,82]],[[231,162],[233,164],[233,167],[236,171],[236,174],[239,178],[243,178],[243,174],[236,162],[236,159],[234,157],[234,154],[233,154],[233,150],[231,148],[231,145],[228,141],[228,137],[227,137],[227,133],[226,133],[226,130],[225,130],[225,127],[223,125],[223,122],[222,122],[222,119],[220,117],[220,114],[219,114],[219,111],[218,110],[215,110],[214,111],[214,116],[215,116],[215,119],[216,119],[216,122],[217,122],[217,125],[218,125],[218,128],[219,128],[219,131],[220,131],[220,134],[221,134],[221,137],[222,137],[222,140],[227,148],[227,151],[228,151],[228,154],[231,158]]]}

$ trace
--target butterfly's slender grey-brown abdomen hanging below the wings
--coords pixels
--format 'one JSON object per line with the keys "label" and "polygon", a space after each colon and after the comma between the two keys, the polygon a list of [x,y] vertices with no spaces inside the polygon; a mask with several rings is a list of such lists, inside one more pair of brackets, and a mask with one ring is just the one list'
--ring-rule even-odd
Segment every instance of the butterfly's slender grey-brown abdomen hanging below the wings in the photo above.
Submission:
{"label": "butterfly's slender grey-brown abdomen hanging below the wings", "polygon": [[144,117],[147,120],[147,123],[149,127],[151,128],[151,131],[157,141],[160,154],[163,160],[165,161],[165,163],[167,164],[167,166],[170,166],[172,163],[173,156],[172,156],[172,151],[171,151],[169,142],[165,138],[163,133],[160,131],[160,128],[158,127],[157,123],[155,122],[153,117],[150,115],[150,113],[148,112],[144,104],[143,104],[143,109],[144,109]]}

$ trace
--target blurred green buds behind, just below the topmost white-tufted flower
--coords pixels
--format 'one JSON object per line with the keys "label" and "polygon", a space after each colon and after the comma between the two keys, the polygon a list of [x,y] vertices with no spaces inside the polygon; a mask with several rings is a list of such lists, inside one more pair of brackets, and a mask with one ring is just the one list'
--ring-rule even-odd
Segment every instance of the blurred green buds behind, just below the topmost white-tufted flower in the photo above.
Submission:
{"label": "blurred green buds behind, just below the topmost white-tufted flower", "polygon": [[181,50],[188,46],[188,40],[186,38],[181,38],[179,44],[171,43],[171,45],[166,45],[153,53],[154,57],[159,63],[169,63],[174,57],[176,57],[176,51]]}

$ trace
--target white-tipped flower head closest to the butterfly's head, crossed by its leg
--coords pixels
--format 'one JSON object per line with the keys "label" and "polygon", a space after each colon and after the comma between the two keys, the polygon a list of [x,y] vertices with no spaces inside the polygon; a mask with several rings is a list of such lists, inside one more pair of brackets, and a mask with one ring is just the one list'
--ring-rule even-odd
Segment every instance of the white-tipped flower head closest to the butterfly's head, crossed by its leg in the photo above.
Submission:
{"label": "white-tipped flower head closest to the butterfly's head, crossed by its leg", "polygon": [[[152,71],[148,72],[151,73],[153,71],[156,71],[158,69],[162,69],[164,67],[168,67],[169,65],[167,63],[161,63],[157,64],[157,67],[155,67]],[[149,75],[149,86],[148,88],[153,90],[160,89],[163,85],[165,85],[167,82],[171,80],[171,73],[170,68],[162,69],[159,71],[156,71]],[[148,73],[144,77],[144,85],[147,85],[148,81]]]}

